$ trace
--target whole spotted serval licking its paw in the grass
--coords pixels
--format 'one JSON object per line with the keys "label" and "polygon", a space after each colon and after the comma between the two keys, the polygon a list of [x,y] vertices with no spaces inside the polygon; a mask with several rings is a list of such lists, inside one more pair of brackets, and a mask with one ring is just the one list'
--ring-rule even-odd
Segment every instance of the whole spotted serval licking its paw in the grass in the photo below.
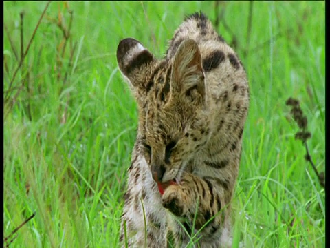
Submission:
{"label": "whole spotted serval licking its paw in the grass", "polygon": [[[230,247],[230,201],[249,107],[239,57],[195,13],[175,31],[164,59],[131,38],[120,41],[117,59],[139,109],[122,245],[166,247],[172,236],[185,247],[198,231],[200,247]],[[175,185],[161,195],[157,183],[169,180]]]}

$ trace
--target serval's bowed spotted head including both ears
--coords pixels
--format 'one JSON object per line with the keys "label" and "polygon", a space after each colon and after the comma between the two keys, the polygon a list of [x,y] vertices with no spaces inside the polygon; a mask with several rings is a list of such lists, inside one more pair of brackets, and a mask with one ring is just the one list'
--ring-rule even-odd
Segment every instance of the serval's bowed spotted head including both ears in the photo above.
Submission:
{"label": "serval's bowed spotted head including both ears", "polygon": [[210,133],[197,43],[186,39],[173,58],[159,61],[139,41],[123,39],[117,60],[139,107],[138,137],[154,180],[178,180]]}

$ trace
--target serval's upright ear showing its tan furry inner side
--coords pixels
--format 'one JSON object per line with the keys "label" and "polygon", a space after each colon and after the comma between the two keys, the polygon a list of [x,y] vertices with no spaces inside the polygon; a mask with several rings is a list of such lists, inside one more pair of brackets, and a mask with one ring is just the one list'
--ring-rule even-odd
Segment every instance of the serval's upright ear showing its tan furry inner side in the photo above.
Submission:
{"label": "serval's upright ear showing its tan furry inner side", "polygon": [[171,93],[188,96],[192,101],[205,99],[201,52],[192,39],[182,41],[173,60]]}

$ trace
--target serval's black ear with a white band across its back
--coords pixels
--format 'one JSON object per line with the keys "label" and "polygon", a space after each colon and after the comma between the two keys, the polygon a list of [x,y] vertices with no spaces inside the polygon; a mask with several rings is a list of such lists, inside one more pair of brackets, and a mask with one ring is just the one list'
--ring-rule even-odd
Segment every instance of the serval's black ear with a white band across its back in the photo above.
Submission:
{"label": "serval's black ear with a white band across its back", "polygon": [[146,65],[154,60],[153,54],[135,39],[123,39],[118,45],[117,62],[119,69],[134,87],[138,83],[134,80],[135,75],[141,74]]}

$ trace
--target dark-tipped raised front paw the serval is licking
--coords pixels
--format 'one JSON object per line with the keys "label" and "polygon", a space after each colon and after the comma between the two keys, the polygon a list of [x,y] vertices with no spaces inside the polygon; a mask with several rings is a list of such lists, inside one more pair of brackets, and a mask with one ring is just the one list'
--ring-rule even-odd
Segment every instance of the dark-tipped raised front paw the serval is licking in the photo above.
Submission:
{"label": "dark-tipped raised front paw the serval is licking", "polygon": [[178,185],[170,185],[162,196],[162,205],[175,216],[183,216],[186,214],[185,199],[186,195]]}

